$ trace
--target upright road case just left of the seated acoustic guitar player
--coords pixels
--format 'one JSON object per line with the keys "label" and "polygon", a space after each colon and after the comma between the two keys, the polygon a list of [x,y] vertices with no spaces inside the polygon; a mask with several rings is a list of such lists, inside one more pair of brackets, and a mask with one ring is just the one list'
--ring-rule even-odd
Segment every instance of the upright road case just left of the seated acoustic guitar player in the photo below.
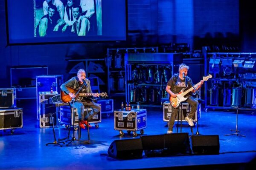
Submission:
{"label": "upright road case just left of the seated acoustic guitar player", "polygon": [[40,127],[52,127],[52,119],[50,113],[52,113],[53,125],[58,123],[58,107],[52,103],[52,97],[58,95],[57,92],[39,92],[38,94],[38,112]]}

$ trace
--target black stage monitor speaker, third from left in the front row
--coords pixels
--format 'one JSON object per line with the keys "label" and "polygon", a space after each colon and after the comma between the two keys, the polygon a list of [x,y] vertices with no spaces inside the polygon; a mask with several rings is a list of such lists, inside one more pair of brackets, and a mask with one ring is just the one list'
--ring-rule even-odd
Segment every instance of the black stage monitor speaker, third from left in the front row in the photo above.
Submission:
{"label": "black stage monitor speaker, third from left in the front row", "polygon": [[191,154],[189,133],[164,134],[165,155]]}

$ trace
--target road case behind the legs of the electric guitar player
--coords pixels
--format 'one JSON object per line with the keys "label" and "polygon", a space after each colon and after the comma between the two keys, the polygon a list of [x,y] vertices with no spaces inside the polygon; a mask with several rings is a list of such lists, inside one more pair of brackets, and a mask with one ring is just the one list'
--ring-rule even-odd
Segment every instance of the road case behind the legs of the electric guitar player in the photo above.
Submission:
{"label": "road case behind the legs of the electric guitar player", "polygon": [[[179,106],[180,107],[180,106]],[[177,109],[179,109],[179,107]],[[188,103],[181,103],[181,114],[179,114],[179,121],[186,121],[185,118],[189,115],[191,106]],[[163,121],[169,122],[169,118],[172,115],[172,105],[169,101],[163,103]],[[195,112],[193,121],[197,121],[201,117],[201,104],[198,105],[198,111]],[[178,116],[176,116],[175,121],[177,121]]]}

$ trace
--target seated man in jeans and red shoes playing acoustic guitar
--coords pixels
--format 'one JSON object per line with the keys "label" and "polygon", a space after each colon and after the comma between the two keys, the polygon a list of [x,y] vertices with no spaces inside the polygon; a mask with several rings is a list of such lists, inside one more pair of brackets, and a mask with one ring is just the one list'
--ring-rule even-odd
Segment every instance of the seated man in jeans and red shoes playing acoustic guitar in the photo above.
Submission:
{"label": "seated man in jeans and red shoes playing acoustic guitar", "polygon": [[[80,120],[79,125],[81,128],[85,129],[84,125],[91,127],[91,125],[88,123],[88,120],[93,118],[93,115],[96,115],[101,110],[101,107],[99,104],[96,104],[93,101],[93,97],[99,97],[99,94],[92,93],[90,80],[86,78],[86,73],[84,69],[79,69],[77,72],[77,77],[73,77],[61,85],[61,95],[64,95],[61,97],[61,100],[75,98],[76,91],[71,91],[71,90],[80,89],[81,86],[82,86],[81,92],[93,94],[93,96],[82,96],[82,98],[80,98],[79,101],[75,100],[74,102],[74,107],[77,109],[77,113],[79,115],[79,120]],[[71,101],[71,100],[68,100],[68,101]],[[73,102],[70,102],[70,105],[71,107],[73,107]],[[84,116],[84,106],[88,106],[92,108],[92,110],[88,113],[88,118],[87,118],[87,115]]]}

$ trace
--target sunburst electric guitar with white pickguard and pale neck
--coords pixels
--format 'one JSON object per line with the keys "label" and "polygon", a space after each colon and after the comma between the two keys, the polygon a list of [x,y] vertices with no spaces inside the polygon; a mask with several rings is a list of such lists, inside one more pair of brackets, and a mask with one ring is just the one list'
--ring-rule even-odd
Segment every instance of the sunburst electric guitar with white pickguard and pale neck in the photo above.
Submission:
{"label": "sunburst electric guitar with white pickguard and pale neck", "polygon": [[[208,76],[204,77],[203,81],[207,81],[209,78],[212,78],[212,75],[208,75]],[[200,84],[201,84],[201,82],[199,82],[198,84],[195,84],[194,88],[197,88],[197,86],[199,86]],[[184,89],[180,90],[180,92],[177,94],[176,98],[174,98],[170,95],[169,101],[170,101],[172,107],[174,107],[176,109],[177,107],[179,107],[181,102],[186,101],[187,98],[185,98],[184,96],[186,94],[188,94],[189,92],[191,92],[194,88],[191,87],[188,90],[186,90],[185,92],[183,92]]]}

